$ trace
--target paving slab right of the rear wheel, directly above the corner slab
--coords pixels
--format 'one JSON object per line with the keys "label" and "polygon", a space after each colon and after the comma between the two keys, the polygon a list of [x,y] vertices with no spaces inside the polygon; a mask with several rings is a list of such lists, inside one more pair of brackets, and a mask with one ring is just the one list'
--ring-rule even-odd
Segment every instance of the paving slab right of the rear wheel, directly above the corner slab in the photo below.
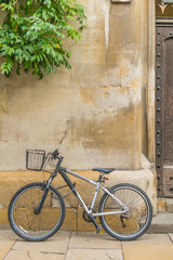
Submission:
{"label": "paving slab right of the rear wheel, directly above the corner slab", "polygon": [[136,240],[122,242],[122,244],[134,245],[172,245],[168,234],[144,234]]}

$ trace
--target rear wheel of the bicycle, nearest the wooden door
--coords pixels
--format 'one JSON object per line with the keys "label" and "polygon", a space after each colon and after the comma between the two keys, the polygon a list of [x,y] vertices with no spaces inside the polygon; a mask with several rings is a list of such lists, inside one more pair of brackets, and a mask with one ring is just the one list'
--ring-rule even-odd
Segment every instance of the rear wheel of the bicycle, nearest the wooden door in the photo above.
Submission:
{"label": "rear wheel of the bicycle, nearest the wooden door", "polygon": [[[125,213],[99,217],[104,230],[119,240],[132,240],[142,236],[152,219],[152,207],[146,193],[132,184],[115,185],[109,191],[129,210]],[[122,208],[105,193],[101,198],[98,210],[99,212],[111,212],[122,211]]]}

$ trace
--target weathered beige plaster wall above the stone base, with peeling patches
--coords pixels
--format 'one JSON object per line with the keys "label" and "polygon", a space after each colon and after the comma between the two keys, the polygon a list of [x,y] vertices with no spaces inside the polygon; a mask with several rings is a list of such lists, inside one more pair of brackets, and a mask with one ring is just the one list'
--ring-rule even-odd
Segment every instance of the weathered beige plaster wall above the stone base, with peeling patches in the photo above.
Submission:
{"label": "weathered beige plaster wall above the stone base, with peeling patches", "polygon": [[142,167],[147,1],[81,2],[89,28],[66,43],[71,70],[0,77],[0,170],[25,169],[26,148],[56,147],[71,169]]}

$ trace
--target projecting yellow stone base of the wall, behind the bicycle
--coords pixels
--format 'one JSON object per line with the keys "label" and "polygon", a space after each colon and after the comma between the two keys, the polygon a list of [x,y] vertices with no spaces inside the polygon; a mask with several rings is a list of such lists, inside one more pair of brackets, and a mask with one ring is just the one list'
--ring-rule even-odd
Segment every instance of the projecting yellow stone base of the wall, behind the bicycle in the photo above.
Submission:
{"label": "projecting yellow stone base of the wall, behind the bicycle", "polygon": [[[93,171],[77,171],[79,174],[82,174],[89,179],[97,180],[98,173]],[[48,174],[44,174],[46,179]],[[86,205],[91,205],[92,195],[94,194],[95,186],[88,185],[82,180],[79,180],[75,177],[70,178],[72,182],[77,182],[77,190],[83,197],[83,200]],[[152,204],[154,214],[157,212],[157,195],[156,195],[156,174],[149,169],[142,169],[136,171],[124,171],[124,170],[116,170],[115,172],[108,176],[108,181],[105,183],[105,186],[112,186],[119,183],[132,183],[139,186],[144,190]],[[8,207],[11,197],[13,194],[21,187],[30,182],[39,182],[43,181],[43,174],[41,172],[32,172],[32,171],[11,171],[11,172],[0,172],[0,188],[1,188],[1,197],[0,197],[0,224],[8,223]],[[55,187],[64,185],[64,181],[59,176],[54,180],[53,185]],[[61,194],[64,196],[69,192],[69,188],[61,190]],[[98,196],[96,200],[96,205],[98,205],[98,200],[102,196]],[[79,202],[71,194],[67,198],[65,198],[66,203],[66,220],[64,223],[64,229],[72,230],[72,231],[95,231],[92,223],[86,223],[82,219],[82,211],[79,207]]]}

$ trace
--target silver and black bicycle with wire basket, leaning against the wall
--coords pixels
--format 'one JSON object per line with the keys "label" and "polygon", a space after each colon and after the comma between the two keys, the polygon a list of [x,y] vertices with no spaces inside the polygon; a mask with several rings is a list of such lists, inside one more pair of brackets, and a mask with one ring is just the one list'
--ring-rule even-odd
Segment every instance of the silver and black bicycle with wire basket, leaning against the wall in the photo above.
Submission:
{"label": "silver and black bicycle with wire basket, leaning against the wall", "polygon": [[[65,218],[64,197],[58,191],[61,187],[55,188],[51,185],[57,173],[69,186],[70,193],[78,198],[84,209],[83,219],[94,224],[96,233],[99,233],[103,226],[114,238],[132,240],[148,230],[152,219],[152,206],[144,191],[129,183],[107,188],[103,185],[107,180],[105,176],[112,172],[115,168],[93,168],[93,171],[99,172],[98,180],[93,181],[62,167],[63,159],[58,150],[46,156],[44,151],[27,151],[27,169],[45,171],[44,167],[49,162],[54,166],[54,171],[48,171],[51,176],[46,181],[27,184],[12,197],[8,212],[9,222],[19,237],[25,240],[40,242],[53,236],[61,229]],[[85,205],[76,190],[76,183],[70,181],[67,173],[95,185],[90,207]],[[103,190],[104,194],[96,211],[95,200],[99,190]],[[99,218],[99,224],[96,222],[96,217]]]}

